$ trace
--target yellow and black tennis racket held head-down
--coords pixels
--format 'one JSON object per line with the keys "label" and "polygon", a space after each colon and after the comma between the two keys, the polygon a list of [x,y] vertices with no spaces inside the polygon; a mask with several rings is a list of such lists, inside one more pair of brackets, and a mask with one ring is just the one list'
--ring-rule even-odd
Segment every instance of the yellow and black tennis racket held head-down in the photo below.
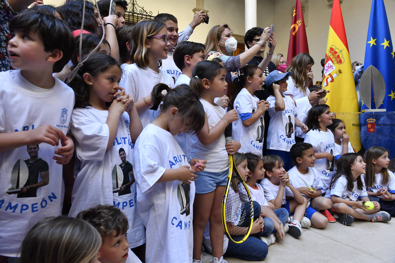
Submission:
{"label": "yellow and black tennis racket held head-down", "polygon": [[[232,124],[225,129],[226,143],[232,142]],[[235,174],[233,175],[233,171]],[[228,238],[244,242],[250,235],[254,222],[254,206],[251,193],[237,171],[233,155],[229,155],[229,173],[222,200],[222,223]]]}

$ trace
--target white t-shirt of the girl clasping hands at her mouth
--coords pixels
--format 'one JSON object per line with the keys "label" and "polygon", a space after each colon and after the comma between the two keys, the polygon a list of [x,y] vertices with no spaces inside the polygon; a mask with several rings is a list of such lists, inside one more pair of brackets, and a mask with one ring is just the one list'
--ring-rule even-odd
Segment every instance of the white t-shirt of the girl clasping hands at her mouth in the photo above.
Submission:
{"label": "white t-shirt of the girl clasping hands at her mouth", "polygon": [[[113,189],[122,185],[124,178],[119,164],[119,149],[124,149],[126,160],[133,164],[133,144],[130,138],[129,116],[124,112],[118,123],[117,136],[106,153],[109,139],[108,111],[88,106],[76,108],[71,116],[71,132],[75,138],[76,158],[80,171],[75,177],[69,216],[96,205],[115,205],[129,221],[127,231],[130,248],[145,243],[145,229],[136,204],[136,184],[131,193],[119,195]],[[117,178],[118,185],[117,185]]]}

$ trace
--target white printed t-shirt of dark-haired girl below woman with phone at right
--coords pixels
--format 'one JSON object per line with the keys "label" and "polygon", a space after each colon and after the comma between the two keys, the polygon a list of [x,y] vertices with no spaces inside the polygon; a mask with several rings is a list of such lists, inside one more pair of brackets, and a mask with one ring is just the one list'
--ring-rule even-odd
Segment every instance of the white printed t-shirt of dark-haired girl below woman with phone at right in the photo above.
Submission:
{"label": "white printed t-shirt of dark-haired girl below woman with phone at right", "polygon": [[[310,130],[306,134],[305,142],[313,146],[314,153],[334,153],[335,151],[335,137],[331,130],[327,129],[327,132],[316,130]],[[334,154],[333,154],[334,155]],[[314,168],[320,173],[320,177],[324,186],[322,187],[322,193],[325,193],[329,184],[331,183],[331,178],[335,174],[335,158],[330,162],[326,158],[316,159],[314,163]]]}

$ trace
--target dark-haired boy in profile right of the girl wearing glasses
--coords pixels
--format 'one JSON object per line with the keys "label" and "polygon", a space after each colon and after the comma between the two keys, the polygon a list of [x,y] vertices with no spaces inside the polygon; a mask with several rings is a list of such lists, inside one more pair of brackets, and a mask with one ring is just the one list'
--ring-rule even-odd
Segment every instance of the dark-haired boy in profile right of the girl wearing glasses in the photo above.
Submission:
{"label": "dark-haired boy in profile right of the girl wearing glasses", "polygon": [[192,78],[192,71],[198,62],[205,60],[205,46],[201,43],[184,41],[174,49],[173,60],[182,71],[174,86],[187,84]]}

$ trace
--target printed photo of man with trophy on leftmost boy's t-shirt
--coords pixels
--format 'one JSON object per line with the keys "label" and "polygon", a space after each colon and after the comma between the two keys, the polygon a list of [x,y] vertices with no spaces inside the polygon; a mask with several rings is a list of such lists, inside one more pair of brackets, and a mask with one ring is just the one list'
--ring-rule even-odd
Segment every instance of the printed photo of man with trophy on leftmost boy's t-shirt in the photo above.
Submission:
{"label": "printed photo of man with trophy on leftmost boy's t-shirt", "polygon": [[17,194],[17,198],[40,197],[40,187],[49,183],[48,163],[38,154],[39,145],[27,145],[29,159],[19,159],[11,170],[11,187],[7,194]]}

